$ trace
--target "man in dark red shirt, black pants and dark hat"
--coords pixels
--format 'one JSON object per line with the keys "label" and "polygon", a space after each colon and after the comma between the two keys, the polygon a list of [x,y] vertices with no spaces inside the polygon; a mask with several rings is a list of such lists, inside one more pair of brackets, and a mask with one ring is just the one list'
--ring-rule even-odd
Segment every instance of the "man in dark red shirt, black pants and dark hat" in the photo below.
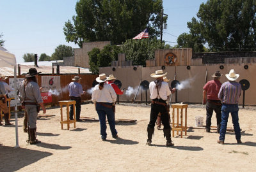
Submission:
{"label": "man in dark red shirt, black pants and dark hat", "polygon": [[218,98],[218,93],[220,91],[221,82],[220,77],[222,74],[220,71],[216,71],[212,78],[213,80],[207,82],[203,89],[203,104],[206,103],[206,132],[210,133],[211,131],[211,118],[212,113],[215,111],[217,118],[217,133],[220,133],[220,122],[221,122],[221,101]]}

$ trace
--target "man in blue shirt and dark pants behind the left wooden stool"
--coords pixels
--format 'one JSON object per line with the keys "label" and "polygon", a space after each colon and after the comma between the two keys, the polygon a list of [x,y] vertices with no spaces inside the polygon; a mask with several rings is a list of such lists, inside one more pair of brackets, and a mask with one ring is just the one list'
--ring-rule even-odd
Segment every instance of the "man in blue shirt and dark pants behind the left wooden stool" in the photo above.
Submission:
{"label": "man in blue shirt and dark pants behind the left wooden stool", "polygon": [[[76,121],[79,122],[80,120],[80,112],[81,112],[81,95],[84,94],[83,87],[80,84],[81,78],[79,76],[74,76],[72,81],[68,84],[68,91],[70,100],[76,101]],[[74,116],[74,107],[73,105],[70,106],[69,111],[69,118],[73,120]]]}

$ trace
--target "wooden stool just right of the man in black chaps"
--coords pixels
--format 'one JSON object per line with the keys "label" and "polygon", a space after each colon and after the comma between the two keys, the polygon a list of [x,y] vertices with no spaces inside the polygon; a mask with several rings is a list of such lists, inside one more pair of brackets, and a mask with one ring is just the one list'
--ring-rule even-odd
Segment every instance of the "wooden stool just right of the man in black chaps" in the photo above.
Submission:
{"label": "wooden stool just right of the man in black chaps", "polygon": [[[177,109],[177,123],[175,123],[175,108]],[[185,108],[185,125],[183,126],[183,108]],[[177,135],[180,132],[180,138],[182,138],[182,131],[185,131],[187,135],[187,108],[188,104],[172,104],[172,136],[174,137],[174,131],[177,131]],[[179,125],[179,109],[180,109],[180,125]],[[176,124],[176,125],[175,125]]]}

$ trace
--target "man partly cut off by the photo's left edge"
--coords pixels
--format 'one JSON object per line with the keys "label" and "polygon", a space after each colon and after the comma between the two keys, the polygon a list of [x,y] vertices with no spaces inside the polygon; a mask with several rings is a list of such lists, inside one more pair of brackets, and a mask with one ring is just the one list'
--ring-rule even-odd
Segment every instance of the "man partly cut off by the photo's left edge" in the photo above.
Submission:
{"label": "man partly cut off by the photo's left edge", "polygon": [[[2,81],[5,78],[0,74],[0,110],[4,113],[5,125],[12,125],[9,121],[9,110],[6,103],[6,89],[4,88],[4,82]],[[3,125],[0,120],[0,125]]]}

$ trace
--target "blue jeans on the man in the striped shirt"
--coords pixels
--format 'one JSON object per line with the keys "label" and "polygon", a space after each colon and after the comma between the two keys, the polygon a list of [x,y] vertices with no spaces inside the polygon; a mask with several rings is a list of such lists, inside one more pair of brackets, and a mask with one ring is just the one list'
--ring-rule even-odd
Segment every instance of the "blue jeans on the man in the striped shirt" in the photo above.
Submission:
{"label": "blue jeans on the man in the striped shirt", "polygon": [[236,140],[241,140],[241,131],[238,118],[238,104],[222,104],[221,108],[221,127],[220,127],[220,140],[225,140],[225,134],[227,130],[228,115],[231,113],[234,131],[236,134]]}

